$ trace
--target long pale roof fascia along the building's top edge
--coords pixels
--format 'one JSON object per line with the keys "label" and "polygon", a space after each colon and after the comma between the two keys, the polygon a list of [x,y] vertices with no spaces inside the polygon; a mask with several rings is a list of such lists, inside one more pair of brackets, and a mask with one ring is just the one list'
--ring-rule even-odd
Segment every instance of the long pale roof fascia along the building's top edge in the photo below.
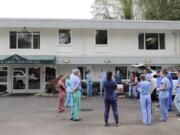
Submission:
{"label": "long pale roof fascia along the building's top edge", "polygon": [[1,18],[0,27],[180,30],[180,21]]}

